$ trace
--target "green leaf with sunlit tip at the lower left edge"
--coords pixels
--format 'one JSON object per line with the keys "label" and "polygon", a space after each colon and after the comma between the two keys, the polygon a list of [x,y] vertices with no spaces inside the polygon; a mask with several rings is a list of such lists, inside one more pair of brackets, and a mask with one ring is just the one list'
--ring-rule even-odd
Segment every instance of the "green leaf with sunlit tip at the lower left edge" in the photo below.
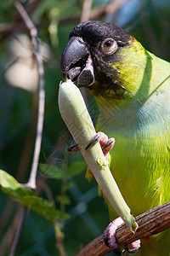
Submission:
{"label": "green leaf with sunlit tip at the lower left edge", "polygon": [[62,213],[61,216],[60,212],[51,202],[37,196],[31,189],[21,186],[14,177],[3,170],[0,170],[0,185],[3,192],[12,197],[14,201],[31,208],[32,211],[37,212],[52,224],[54,224],[56,219],[69,218],[69,215],[66,213]]}

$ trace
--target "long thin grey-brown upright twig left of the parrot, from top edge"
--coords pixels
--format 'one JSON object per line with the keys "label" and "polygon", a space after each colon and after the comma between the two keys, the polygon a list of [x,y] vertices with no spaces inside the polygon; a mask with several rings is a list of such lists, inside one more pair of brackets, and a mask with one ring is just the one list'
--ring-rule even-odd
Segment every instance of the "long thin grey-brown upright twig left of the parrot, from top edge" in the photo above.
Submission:
{"label": "long thin grey-brown upright twig left of the parrot, from top edge", "polygon": [[40,53],[39,42],[37,38],[37,28],[34,26],[33,22],[31,21],[29,15],[27,15],[26,10],[19,2],[14,1],[14,6],[20,13],[21,17],[26,23],[27,28],[30,31],[32,44],[35,48],[35,54],[37,57],[37,68],[39,73],[39,101],[38,101],[38,113],[37,113],[37,135],[36,135],[36,142],[35,142],[35,150],[32,160],[31,166],[31,174],[28,183],[26,184],[27,187],[31,189],[36,189],[36,177],[37,177],[37,165],[41,150],[41,143],[42,143],[42,128],[43,128],[43,118],[44,118],[44,105],[45,105],[45,91],[44,91],[44,80],[43,80],[43,64],[42,64],[42,55]]}

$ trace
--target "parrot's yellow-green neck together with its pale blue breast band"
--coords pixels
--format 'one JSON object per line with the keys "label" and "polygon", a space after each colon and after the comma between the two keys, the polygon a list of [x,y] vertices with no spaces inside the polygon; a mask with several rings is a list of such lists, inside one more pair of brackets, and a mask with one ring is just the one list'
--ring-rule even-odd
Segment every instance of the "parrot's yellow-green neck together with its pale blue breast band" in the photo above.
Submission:
{"label": "parrot's yellow-green neck together with its pale blue breast band", "polygon": [[111,88],[100,95],[93,91],[107,120],[104,128],[128,136],[138,132],[142,137],[160,136],[170,124],[170,63],[146,51],[135,39],[117,55],[119,61],[109,65],[117,71],[114,83],[120,84],[122,96],[116,97]]}

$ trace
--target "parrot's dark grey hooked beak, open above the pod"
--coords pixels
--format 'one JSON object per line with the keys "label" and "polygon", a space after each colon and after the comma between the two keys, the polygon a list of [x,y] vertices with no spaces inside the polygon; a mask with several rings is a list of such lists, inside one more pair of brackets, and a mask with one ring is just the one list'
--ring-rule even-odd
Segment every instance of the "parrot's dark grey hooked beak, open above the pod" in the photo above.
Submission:
{"label": "parrot's dark grey hooked beak, open above the pod", "polygon": [[88,45],[82,38],[72,37],[61,57],[63,79],[71,79],[78,87],[94,84],[94,66]]}

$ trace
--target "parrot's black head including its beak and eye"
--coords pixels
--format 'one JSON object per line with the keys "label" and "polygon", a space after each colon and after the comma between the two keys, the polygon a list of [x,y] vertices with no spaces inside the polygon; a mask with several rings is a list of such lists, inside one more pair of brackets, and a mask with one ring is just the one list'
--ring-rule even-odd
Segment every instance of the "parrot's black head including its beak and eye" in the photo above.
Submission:
{"label": "parrot's black head including its beak and eye", "polygon": [[[88,20],[75,26],[61,57],[63,79],[71,79],[77,86],[104,84],[120,89],[115,83],[118,75],[114,63],[120,61],[119,51],[132,37],[111,23]],[[101,88],[100,88],[101,91]]]}

